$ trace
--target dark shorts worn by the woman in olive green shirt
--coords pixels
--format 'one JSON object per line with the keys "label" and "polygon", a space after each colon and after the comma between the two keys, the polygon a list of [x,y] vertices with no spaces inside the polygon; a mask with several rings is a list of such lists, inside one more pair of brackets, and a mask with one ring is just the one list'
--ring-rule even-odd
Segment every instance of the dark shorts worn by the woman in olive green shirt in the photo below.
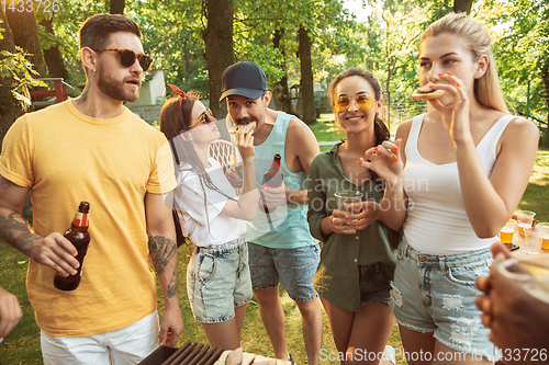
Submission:
{"label": "dark shorts worn by the woman in olive green shirt", "polygon": [[358,266],[360,275],[360,304],[389,303],[391,292],[391,276],[383,264]]}

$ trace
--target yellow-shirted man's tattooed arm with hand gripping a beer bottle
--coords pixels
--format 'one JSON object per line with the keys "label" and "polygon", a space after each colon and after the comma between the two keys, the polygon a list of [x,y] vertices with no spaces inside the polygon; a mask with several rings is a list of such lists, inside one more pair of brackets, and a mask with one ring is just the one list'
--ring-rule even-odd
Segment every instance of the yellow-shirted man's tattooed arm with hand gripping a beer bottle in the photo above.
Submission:
{"label": "yellow-shirted man's tattooed arm with hand gripping a beer bottle", "polygon": [[46,237],[34,233],[21,215],[29,191],[29,187],[15,185],[0,176],[0,237],[34,261],[54,269],[59,275],[75,275],[79,263],[75,259],[78,251],[72,243],[58,232]]}

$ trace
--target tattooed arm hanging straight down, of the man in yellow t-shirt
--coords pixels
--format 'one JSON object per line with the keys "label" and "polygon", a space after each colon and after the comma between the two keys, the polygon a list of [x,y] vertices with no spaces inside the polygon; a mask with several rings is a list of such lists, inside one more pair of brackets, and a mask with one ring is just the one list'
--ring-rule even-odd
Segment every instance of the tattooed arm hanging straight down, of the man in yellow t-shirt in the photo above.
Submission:
{"label": "tattooed arm hanging straight down, of the man in yellow t-shirt", "polygon": [[164,204],[163,195],[145,196],[148,250],[163,287],[165,309],[160,320],[160,345],[173,346],[183,331],[177,281],[177,243],[171,209]]}

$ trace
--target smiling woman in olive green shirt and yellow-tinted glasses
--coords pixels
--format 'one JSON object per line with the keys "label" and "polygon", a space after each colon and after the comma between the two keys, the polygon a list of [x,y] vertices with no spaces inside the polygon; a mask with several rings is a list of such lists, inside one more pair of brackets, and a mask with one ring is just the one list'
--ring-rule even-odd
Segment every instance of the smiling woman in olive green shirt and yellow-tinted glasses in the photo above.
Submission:
{"label": "smiling woman in olive green shirt and yellow-tinted glasses", "polygon": [[[379,219],[383,181],[358,159],[390,134],[379,116],[381,87],[370,72],[339,73],[328,98],[346,138],[311,163],[307,218],[324,243],[314,287],[337,351],[346,354],[341,363],[378,364],[395,323],[388,303],[397,232]],[[361,192],[362,202],[338,209],[338,191]]]}

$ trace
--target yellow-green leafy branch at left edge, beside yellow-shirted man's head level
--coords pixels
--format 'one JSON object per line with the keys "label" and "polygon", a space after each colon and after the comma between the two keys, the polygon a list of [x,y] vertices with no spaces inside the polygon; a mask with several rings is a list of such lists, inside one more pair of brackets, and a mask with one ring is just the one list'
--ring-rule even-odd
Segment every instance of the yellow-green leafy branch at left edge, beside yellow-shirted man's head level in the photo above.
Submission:
{"label": "yellow-green leafy branch at left edge, beside yellow-shirted man's head level", "polygon": [[35,80],[33,76],[38,76],[33,69],[33,65],[21,47],[15,46],[18,53],[0,50],[0,78],[12,80],[11,93],[18,101],[31,105],[29,89],[35,87],[46,87],[42,81]]}

